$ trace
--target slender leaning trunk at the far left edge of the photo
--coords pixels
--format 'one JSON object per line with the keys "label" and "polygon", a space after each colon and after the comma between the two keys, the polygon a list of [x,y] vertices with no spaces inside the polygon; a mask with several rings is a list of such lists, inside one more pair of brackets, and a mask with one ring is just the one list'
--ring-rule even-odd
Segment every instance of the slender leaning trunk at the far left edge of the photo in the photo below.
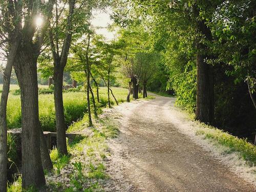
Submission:
{"label": "slender leaning trunk at the far left edge of the photo", "polygon": [[9,55],[7,58],[7,65],[3,73],[3,92],[0,103],[0,191],[7,190],[7,100],[10,90],[10,78],[12,73],[12,66],[15,59],[16,51],[19,41],[16,40],[10,45]]}

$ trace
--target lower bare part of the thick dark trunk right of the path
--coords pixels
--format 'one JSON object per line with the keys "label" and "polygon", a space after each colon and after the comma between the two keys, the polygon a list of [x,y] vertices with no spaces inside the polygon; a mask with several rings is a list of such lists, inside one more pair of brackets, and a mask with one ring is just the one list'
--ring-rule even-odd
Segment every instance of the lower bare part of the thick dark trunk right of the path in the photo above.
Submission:
{"label": "lower bare part of the thick dark trunk right of the path", "polygon": [[214,122],[214,83],[212,66],[205,62],[206,56],[197,53],[197,109],[196,119],[204,123]]}

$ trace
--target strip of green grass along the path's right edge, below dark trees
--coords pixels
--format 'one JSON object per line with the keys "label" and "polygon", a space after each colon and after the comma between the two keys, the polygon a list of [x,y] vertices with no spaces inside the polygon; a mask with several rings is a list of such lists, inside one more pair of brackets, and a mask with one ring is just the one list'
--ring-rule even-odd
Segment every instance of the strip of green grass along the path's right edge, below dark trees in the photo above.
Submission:
{"label": "strip of green grass along the path's right edge, below dark trees", "polygon": [[240,139],[215,127],[209,128],[209,126],[198,130],[196,134],[204,135],[205,139],[228,147],[226,153],[238,152],[249,165],[256,164],[256,146],[249,143],[246,139]]}

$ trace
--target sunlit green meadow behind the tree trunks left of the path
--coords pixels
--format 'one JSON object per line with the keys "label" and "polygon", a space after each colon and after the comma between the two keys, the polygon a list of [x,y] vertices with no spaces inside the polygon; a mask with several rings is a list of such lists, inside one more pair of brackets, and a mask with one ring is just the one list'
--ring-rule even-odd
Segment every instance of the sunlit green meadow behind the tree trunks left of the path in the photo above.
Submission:
{"label": "sunlit green meadow behind the tree trunks left of the path", "polygon": [[[46,89],[48,86],[39,86]],[[111,88],[118,102],[126,100],[127,90],[123,88]],[[0,91],[2,85],[0,85]],[[22,127],[20,95],[18,85],[10,86],[10,94],[7,104],[7,126],[8,129]],[[96,93],[95,93],[96,97]],[[107,89],[102,87],[99,89],[100,103],[99,108],[106,106],[108,101]],[[114,98],[111,96],[112,105],[115,104]],[[68,127],[74,121],[81,119],[87,113],[86,93],[84,92],[65,92],[63,93],[63,104],[65,108],[65,122]],[[55,109],[53,94],[39,94],[39,119],[44,131],[55,132]],[[66,127],[66,128],[67,128]]]}

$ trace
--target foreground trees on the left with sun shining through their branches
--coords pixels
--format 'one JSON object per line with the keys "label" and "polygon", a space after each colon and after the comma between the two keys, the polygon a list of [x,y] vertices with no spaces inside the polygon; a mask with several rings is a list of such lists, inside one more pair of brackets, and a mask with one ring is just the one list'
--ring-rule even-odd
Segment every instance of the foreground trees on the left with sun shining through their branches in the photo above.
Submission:
{"label": "foreground trees on the left with sun shining through their branches", "polygon": [[0,2],[0,45],[4,51],[3,93],[0,105],[0,190],[6,191],[7,124],[6,106],[10,75],[14,67],[22,101],[22,185],[45,185],[43,169],[52,163],[38,116],[38,57],[51,51],[57,148],[67,154],[63,112],[63,71],[69,49],[77,36],[87,33],[93,8],[104,8],[108,1],[22,1]]}

